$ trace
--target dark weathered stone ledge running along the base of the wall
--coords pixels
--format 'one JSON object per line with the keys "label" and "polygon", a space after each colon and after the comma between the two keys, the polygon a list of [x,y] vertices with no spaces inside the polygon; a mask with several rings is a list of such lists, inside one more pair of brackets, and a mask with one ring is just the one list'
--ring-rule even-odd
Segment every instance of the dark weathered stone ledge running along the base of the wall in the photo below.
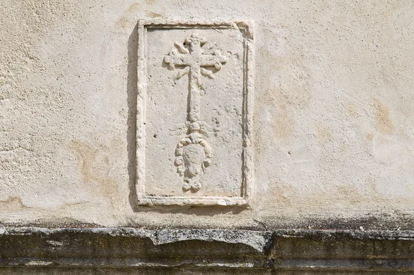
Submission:
{"label": "dark weathered stone ledge running along the base of the wall", "polygon": [[414,231],[0,229],[0,267],[414,272]]}

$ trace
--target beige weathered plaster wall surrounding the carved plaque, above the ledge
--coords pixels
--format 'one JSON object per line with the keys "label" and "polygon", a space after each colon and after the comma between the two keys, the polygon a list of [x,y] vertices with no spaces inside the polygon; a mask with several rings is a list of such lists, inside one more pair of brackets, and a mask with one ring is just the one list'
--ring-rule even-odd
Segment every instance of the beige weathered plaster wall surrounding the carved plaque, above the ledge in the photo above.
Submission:
{"label": "beige weathered plaster wall surrounding the carved plaque, above the ledge", "polygon": [[[412,227],[412,1],[0,5],[4,225]],[[135,205],[136,26],[154,18],[255,21],[250,207]]]}

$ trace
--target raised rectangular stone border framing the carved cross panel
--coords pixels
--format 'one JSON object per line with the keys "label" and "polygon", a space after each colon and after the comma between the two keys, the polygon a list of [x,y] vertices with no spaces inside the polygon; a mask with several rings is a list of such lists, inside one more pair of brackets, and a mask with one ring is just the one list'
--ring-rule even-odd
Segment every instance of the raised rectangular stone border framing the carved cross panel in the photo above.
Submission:
{"label": "raised rectangular stone border framing the carved cross panel", "polygon": [[[213,28],[239,29],[244,35],[243,61],[243,153],[242,184],[239,197],[219,196],[146,196],[145,163],[146,163],[146,39],[150,28]],[[253,99],[254,99],[254,52],[253,21],[175,21],[175,20],[139,20],[138,21],[138,86],[137,86],[137,205],[239,205],[250,204],[250,193],[253,186]]]}

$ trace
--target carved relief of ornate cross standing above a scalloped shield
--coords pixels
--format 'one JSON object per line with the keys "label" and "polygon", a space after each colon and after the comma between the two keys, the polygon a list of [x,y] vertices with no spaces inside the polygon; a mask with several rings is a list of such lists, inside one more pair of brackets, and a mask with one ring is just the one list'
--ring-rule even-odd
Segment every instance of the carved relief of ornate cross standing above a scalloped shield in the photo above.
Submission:
{"label": "carved relief of ornate cross standing above a scalloped shield", "polygon": [[[203,48],[206,44],[206,37],[201,37],[195,32],[187,37],[184,44],[175,42],[175,48],[164,57],[164,62],[172,69],[175,66],[184,66],[178,75],[180,79],[188,74],[188,106],[187,122],[188,131],[186,138],[181,139],[175,150],[175,165],[180,176],[184,176],[184,191],[198,191],[201,189],[199,173],[204,171],[211,164],[211,148],[203,137],[203,128],[207,122],[200,121],[200,96],[201,96],[201,75],[215,78],[208,67],[220,70],[226,63],[227,57],[221,55],[219,50],[212,54],[206,53]],[[212,47],[213,49],[215,46]],[[211,50],[211,48],[209,49]]]}

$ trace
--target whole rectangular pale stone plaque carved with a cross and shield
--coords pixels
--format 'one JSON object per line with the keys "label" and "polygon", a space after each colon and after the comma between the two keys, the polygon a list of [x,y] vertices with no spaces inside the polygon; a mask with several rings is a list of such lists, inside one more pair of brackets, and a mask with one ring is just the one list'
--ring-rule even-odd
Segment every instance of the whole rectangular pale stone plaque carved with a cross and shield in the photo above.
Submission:
{"label": "whole rectangular pale stone plaque carved with a cross and shield", "polygon": [[138,36],[138,204],[248,204],[251,23],[139,21]]}

